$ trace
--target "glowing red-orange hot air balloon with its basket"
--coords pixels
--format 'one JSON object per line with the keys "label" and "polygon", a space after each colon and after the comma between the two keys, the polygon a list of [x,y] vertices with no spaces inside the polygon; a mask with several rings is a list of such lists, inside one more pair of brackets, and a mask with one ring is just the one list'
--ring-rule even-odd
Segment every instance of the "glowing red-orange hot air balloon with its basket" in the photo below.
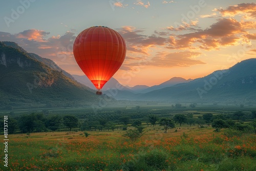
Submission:
{"label": "glowing red-orange hot air balloon with its basket", "polygon": [[113,29],[104,26],[83,30],[73,45],[78,66],[92,81],[101,95],[104,84],[121,67],[126,54],[123,37]]}

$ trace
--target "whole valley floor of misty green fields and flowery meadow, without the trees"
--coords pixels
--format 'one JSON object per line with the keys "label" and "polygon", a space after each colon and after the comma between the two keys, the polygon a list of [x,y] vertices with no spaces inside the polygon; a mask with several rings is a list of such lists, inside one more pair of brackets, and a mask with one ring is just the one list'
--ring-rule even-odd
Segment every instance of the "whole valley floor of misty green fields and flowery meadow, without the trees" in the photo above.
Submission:
{"label": "whole valley floor of misty green fields and flowery meadow, without the trees", "polygon": [[[46,117],[54,115],[75,115],[80,126],[83,122],[108,119],[116,124],[114,131],[91,129],[81,131],[75,127],[72,131],[60,125],[56,132],[9,134],[8,168],[1,163],[0,170],[256,170],[256,134],[233,129],[215,129],[204,123],[189,125],[176,123],[174,129],[168,129],[157,122],[156,126],[146,122],[147,117],[173,118],[177,114],[193,114],[194,118],[211,113],[232,118],[233,113],[244,112],[243,121],[250,123],[254,106],[241,108],[238,105],[198,104],[190,108],[163,105],[120,105],[106,108],[52,108],[17,109],[13,113],[1,111],[0,115],[9,115],[19,120],[24,114],[43,113]],[[135,140],[124,137],[121,116],[129,116],[127,130],[136,120],[145,127],[142,137]],[[241,118],[242,119],[242,118]],[[236,121],[235,119],[233,119]],[[159,121],[159,120],[158,120]],[[211,123],[209,123],[211,124]],[[86,136],[87,135],[87,136]],[[3,138],[4,139],[4,138]],[[4,158],[4,145],[0,146],[0,157]]]}

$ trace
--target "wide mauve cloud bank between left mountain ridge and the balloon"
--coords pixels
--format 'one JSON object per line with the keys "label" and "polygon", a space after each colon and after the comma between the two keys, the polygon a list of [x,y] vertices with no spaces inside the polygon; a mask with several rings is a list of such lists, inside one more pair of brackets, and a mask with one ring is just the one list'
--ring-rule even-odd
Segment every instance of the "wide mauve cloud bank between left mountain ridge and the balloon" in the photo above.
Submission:
{"label": "wide mauve cloud bank between left mountain ridge and the balloon", "polygon": [[30,29],[17,34],[0,32],[0,41],[14,41],[27,52],[61,63],[75,63],[73,57],[73,41],[75,33],[67,31],[63,35],[47,38],[49,32]]}

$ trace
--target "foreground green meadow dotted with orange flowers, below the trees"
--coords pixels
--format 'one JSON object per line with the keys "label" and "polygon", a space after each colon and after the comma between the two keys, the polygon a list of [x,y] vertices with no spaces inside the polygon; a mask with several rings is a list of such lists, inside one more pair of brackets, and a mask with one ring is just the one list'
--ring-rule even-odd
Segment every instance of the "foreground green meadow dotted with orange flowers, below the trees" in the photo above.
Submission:
{"label": "foreground green meadow dotted with orange flowers, below the trees", "polygon": [[[133,127],[128,127],[132,129]],[[177,132],[175,130],[177,129]],[[9,170],[255,170],[256,135],[148,126],[138,140],[114,132],[9,135]],[[3,159],[3,145],[0,157]],[[0,169],[7,170],[1,163]]]}

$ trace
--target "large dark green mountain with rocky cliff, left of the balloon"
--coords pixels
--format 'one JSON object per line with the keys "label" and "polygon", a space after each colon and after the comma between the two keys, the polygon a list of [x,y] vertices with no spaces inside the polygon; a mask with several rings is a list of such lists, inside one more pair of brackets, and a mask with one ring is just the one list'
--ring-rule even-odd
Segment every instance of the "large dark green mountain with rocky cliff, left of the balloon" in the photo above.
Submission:
{"label": "large dark green mountain with rocky cliff, left of the balloon", "polygon": [[[0,41],[0,106],[57,107],[98,104],[93,90]],[[8,107],[9,108],[9,107]]]}

